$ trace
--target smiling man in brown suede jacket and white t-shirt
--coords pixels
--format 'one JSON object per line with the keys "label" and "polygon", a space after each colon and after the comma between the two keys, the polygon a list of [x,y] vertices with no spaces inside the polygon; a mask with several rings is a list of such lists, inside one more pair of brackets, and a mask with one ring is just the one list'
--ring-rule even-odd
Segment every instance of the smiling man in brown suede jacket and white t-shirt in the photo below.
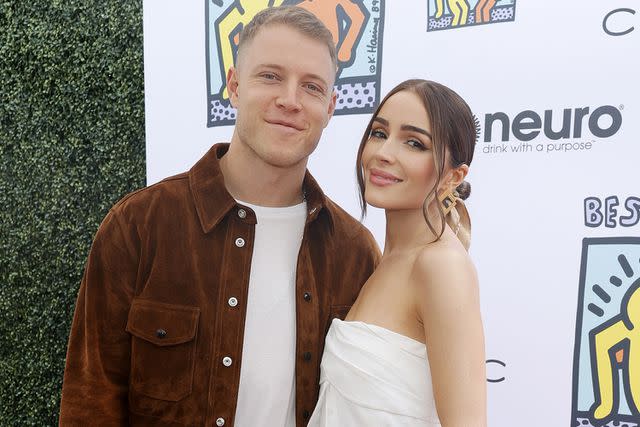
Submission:
{"label": "smiling man in brown suede jacket and white t-shirt", "polygon": [[61,425],[306,424],[329,322],[379,259],[306,171],[335,71],[331,33],[303,9],[244,28],[230,145],[125,197],[96,234]]}

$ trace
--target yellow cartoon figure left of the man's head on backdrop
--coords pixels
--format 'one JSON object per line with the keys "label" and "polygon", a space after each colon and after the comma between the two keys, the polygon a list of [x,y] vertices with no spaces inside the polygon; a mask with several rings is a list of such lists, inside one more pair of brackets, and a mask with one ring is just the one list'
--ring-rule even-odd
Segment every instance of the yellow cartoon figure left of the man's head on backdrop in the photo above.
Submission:
{"label": "yellow cartoon figure left of the man's head on backdrop", "polygon": [[[231,33],[238,28],[238,26],[244,27],[253,19],[258,12],[272,6],[280,6],[284,0],[236,0],[231,4],[229,9],[224,12],[224,18],[218,23],[216,33],[218,36],[218,46],[220,46],[220,54],[222,59],[222,67],[225,75],[222,76],[222,80],[229,72],[229,68],[233,66],[233,51],[238,45],[238,37],[234,37],[231,40]],[[232,43],[235,45],[232,45]],[[222,99],[229,99],[227,92],[227,85],[223,83],[222,86]]]}

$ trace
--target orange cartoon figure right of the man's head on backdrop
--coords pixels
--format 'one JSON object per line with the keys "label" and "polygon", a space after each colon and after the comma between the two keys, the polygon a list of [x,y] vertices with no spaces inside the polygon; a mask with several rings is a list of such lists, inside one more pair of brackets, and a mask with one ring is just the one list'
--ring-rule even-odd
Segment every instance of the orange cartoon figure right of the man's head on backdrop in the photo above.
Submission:
{"label": "orange cartoon figure right of the man's head on backdrop", "polygon": [[[354,46],[358,41],[358,34],[365,23],[366,16],[362,11],[364,7],[362,1],[355,0],[327,0],[327,1],[313,1],[305,0],[297,4],[302,8],[307,9],[320,19],[324,25],[331,31],[333,35],[333,42],[336,46],[340,46],[338,50],[338,61],[349,62],[354,55]],[[340,26],[341,20],[338,17],[338,6],[344,10],[350,19],[349,28],[347,28],[346,34],[340,40]]]}

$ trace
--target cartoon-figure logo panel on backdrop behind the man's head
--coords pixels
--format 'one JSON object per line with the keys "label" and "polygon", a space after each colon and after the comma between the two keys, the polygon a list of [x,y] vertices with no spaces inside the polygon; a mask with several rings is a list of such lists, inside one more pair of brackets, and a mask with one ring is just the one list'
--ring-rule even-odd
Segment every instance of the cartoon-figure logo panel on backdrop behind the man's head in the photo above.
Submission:
{"label": "cartoon-figure logo panel on backdrop behind the man's head", "polygon": [[386,0],[205,0],[207,127],[235,123],[227,70],[234,64],[240,32],[261,10],[295,5],[331,31],[338,56],[335,115],[373,112],[380,101],[380,69]]}

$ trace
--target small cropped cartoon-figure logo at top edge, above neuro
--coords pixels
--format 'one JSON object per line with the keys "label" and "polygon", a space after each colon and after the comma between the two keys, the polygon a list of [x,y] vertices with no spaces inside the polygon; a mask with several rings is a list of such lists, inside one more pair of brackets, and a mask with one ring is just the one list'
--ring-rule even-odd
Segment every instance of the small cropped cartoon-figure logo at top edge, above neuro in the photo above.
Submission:
{"label": "small cropped cartoon-figure logo at top edge, above neuro", "polygon": [[428,0],[427,31],[514,21],[516,0]]}

